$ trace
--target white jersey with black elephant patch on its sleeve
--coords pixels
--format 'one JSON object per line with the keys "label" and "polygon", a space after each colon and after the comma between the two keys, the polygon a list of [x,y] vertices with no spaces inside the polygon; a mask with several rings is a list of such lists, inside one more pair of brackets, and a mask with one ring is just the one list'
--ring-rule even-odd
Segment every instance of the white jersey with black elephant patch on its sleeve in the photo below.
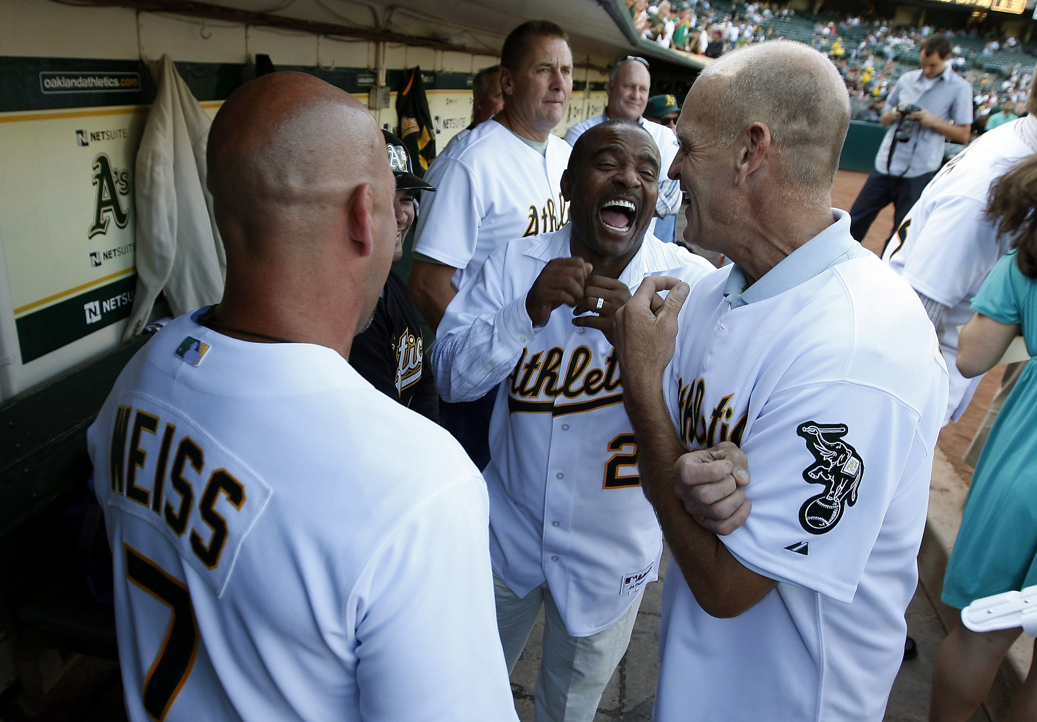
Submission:
{"label": "white jersey with black elephant patch on its sleeve", "polygon": [[[917,296],[838,221],[745,289],[692,289],[664,374],[689,449],[749,457],[753,510],[721,539],[778,580],[719,619],[675,564],[663,595],[660,722],[879,722],[903,656],[933,446],[947,401]],[[737,694],[732,694],[732,689]]]}

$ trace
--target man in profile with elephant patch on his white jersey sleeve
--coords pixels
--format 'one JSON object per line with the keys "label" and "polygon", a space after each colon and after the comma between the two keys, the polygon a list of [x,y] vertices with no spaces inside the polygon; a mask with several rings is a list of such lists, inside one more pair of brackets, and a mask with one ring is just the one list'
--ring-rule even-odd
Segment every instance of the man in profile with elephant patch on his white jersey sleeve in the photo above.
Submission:
{"label": "man in profile with elephant patch on his white jersey sleeve", "polygon": [[[646,279],[616,321],[642,483],[676,562],[660,722],[879,722],[900,667],[947,371],[917,296],[831,207],[848,124],[835,66],[784,40],[703,71],[677,123],[684,238],[734,265],[691,289]],[[706,449],[725,440],[754,478],[722,540],[673,487],[675,463],[726,472]]]}

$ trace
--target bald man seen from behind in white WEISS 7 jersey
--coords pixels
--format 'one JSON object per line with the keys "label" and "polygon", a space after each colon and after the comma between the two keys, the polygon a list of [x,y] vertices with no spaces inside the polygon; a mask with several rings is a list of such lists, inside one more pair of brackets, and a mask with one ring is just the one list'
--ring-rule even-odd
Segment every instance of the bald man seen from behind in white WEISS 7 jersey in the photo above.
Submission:
{"label": "bald man seen from behind in white WEISS 7 jersey", "polygon": [[88,434],[129,718],[514,722],[478,470],[345,360],[395,246],[377,124],[267,75],[207,169],[223,299],[160,331]]}

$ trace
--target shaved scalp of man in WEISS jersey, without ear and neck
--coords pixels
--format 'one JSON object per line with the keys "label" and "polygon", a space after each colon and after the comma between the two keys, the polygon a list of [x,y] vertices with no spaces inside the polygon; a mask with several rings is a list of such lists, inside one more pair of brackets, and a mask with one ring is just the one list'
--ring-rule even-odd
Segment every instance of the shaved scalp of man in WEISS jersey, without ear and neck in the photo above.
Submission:
{"label": "shaved scalp of man in WEISS jersey, without ear and neck", "polygon": [[393,188],[371,114],[304,73],[272,73],[235,90],[213,121],[206,160],[228,252],[319,242],[358,187]]}

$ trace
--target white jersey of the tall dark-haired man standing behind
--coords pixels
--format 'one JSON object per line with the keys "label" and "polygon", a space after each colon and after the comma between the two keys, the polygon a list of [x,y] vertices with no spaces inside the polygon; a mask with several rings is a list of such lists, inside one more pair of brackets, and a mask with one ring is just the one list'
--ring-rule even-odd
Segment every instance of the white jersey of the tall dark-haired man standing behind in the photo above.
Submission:
{"label": "white jersey of the tall dark-haired man standing behind", "polygon": [[459,288],[501,244],[561,228],[571,150],[552,135],[544,157],[493,118],[479,123],[429,166],[425,180],[439,190],[422,198],[414,251],[457,269]]}

